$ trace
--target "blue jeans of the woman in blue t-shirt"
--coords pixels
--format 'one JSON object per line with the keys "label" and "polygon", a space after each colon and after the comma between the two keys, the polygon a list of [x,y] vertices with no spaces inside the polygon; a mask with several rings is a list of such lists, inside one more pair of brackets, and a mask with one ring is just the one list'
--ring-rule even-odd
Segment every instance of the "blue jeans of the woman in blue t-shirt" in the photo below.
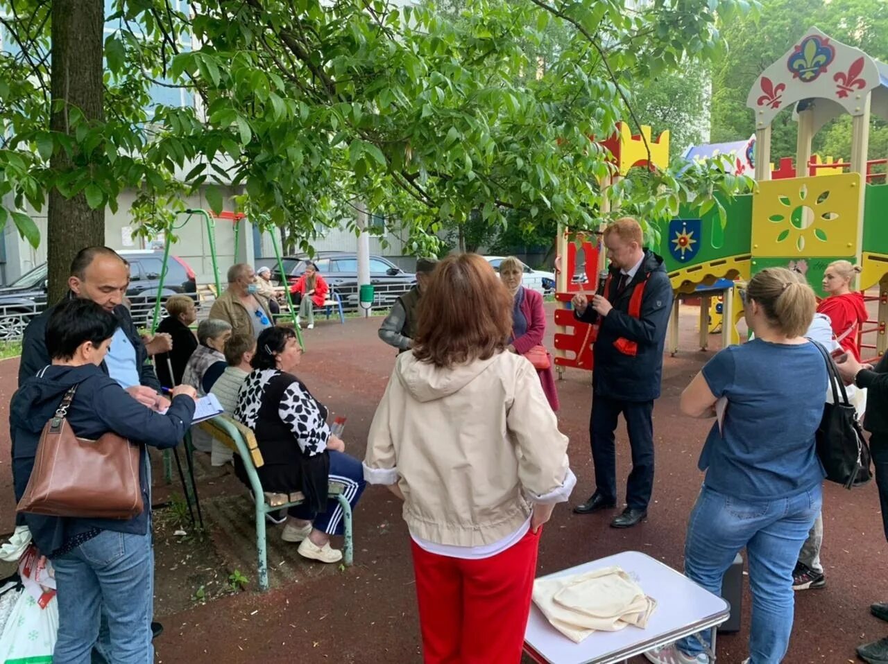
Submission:
{"label": "blue jeans of the woman in blue t-shirt", "polygon": [[[795,597],[792,570],[821,510],[822,486],[789,498],[743,501],[705,485],[691,511],[685,575],[721,595],[722,578],[743,547],[749,557],[752,626],[749,664],[779,664],[789,648]],[[697,635],[706,644],[710,633]],[[678,642],[689,655],[703,652],[695,638]]]}

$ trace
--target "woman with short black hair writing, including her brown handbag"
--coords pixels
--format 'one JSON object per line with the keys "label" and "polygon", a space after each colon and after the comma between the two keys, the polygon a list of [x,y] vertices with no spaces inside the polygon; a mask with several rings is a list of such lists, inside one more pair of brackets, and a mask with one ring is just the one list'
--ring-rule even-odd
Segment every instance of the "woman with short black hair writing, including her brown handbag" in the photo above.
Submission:
{"label": "woman with short black hair writing, including her brown handbag", "polygon": [[[90,660],[100,613],[115,664],[154,659],[146,446],[178,444],[194,415],[195,392],[176,388],[163,415],[132,399],[100,368],[116,328],[115,316],[91,300],[59,304],[46,328],[52,365],[23,383],[10,405],[18,519],[55,568],[55,664]],[[133,494],[136,500],[123,504]],[[103,498],[113,509],[102,509]]]}

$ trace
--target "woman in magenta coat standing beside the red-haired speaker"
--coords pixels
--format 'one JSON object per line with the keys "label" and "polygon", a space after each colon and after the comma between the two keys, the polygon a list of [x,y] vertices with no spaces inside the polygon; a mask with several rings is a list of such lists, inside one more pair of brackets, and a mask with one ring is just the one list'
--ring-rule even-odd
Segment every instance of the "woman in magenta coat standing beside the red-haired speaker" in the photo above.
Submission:
{"label": "woman in magenta coat standing beside the red-haired speaker", "polygon": [[[510,256],[503,258],[500,263],[500,279],[515,298],[512,307],[511,318],[511,343],[509,350],[521,355],[529,351],[535,345],[543,344],[543,336],[546,333],[546,312],[543,309],[543,296],[535,290],[526,289],[521,285],[521,277],[524,276],[524,264],[518,258]],[[546,369],[537,369],[540,376],[540,384],[543,385],[546,399],[552,410],[558,411],[558,391],[555,389],[555,379],[552,377],[551,355],[550,366]]]}

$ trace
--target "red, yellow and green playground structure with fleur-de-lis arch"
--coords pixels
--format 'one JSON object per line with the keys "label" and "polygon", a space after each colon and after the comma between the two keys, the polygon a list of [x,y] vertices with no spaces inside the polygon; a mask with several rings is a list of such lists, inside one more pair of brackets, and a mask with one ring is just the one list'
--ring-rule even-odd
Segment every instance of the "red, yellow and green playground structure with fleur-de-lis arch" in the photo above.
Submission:
{"label": "red, yellow and green playground structure with fleur-de-lis arch", "polygon": [[[754,168],[753,193],[722,201],[727,211],[724,224],[715,209],[702,216],[691,209],[680,210],[678,218],[660,226],[660,243],[652,247],[665,259],[677,295],[670,322],[670,350],[677,349],[681,297],[694,293],[705,297],[701,312],[705,347],[708,300],[718,295],[713,288],[721,291],[725,342],[738,343],[736,323],[742,307],[734,281],[749,280],[767,267],[782,266],[804,274],[814,291],[821,293],[827,265],[845,259],[862,269],[857,289],[879,290],[872,298],[878,300],[876,320],[860,330],[861,336],[875,333],[876,340],[866,343],[861,338],[860,345],[865,356],[883,354],[888,348],[888,232],[879,217],[888,209],[888,184],[884,173],[874,167],[888,162],[888,155],[868,161],[868,134],[871,115],[888,121],[888,65],[811,28],[757,78],[747,105],[756,114],[756,134],[738,144],[746,149],[737,162],[748,160]],[[771,123],[781,109],[793,106],[798,126],[796,165],[783,158],[775,167],[771,163]],[[814,134],[844,113],[852,116],[851,159],[836,162],[813,157]],[[626,133],[621,132],[617,152],[611,149],[621,173],[641,143],[640,136],[627,140]],[[622,157],[623,152],[630,156]],[[658,153],[652,150],[651,154],[651,165],[665,165]],[[798,164],[807,167],[801,169],[801,175]],[[586,249],[587,245],[592,247],[591,242],[583,244],[589,281],[583,286],[570,284],[576,249],[568,235],[566,231],[559,236],[559,256],[567,259],[557,284],[557,299],[562,304],[577,290],[594,289],[600,260],[598,243],[591,252]],[[596,273],[590,273],[590,264]],[[555,322],[559,326],[555,336],[559,373],[564,367],[591,368],[589,344],[583,343],[589,326],[574,320],[567,308],[556,312]],[[572,328],[570,333],[568,327]]]}

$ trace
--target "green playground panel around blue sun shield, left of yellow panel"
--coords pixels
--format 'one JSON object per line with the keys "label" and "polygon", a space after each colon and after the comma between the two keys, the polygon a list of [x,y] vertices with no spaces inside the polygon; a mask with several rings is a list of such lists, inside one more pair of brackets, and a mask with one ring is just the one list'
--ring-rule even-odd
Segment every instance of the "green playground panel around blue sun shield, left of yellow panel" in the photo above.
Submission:
{"label": "green playground panel around blue sun shield, left of yellow panel", "polygon": [[[719,198],[719,200],[722,199]],[[696,254],[689,257],[688,260],[679,260],[670,251],[670,247],[675,248],[673,243],[676,236],[674,225],[672,233],[670,233],[671,222],[663,223],[660,226],[660,245],[657,253],[665,259],[667,271],[673,272],[722,258],[749,254],[752,244],[752,196],[737,196],[729,201],[722,200],[722,204],[727,212],[724,228],[718,217],[717,209],[710,209],[702,217],[686,206],[679,209],[678,219],[701,219],[702,221],[701,237],[695,238],[700,242],[700,245],[694,247]]]}

